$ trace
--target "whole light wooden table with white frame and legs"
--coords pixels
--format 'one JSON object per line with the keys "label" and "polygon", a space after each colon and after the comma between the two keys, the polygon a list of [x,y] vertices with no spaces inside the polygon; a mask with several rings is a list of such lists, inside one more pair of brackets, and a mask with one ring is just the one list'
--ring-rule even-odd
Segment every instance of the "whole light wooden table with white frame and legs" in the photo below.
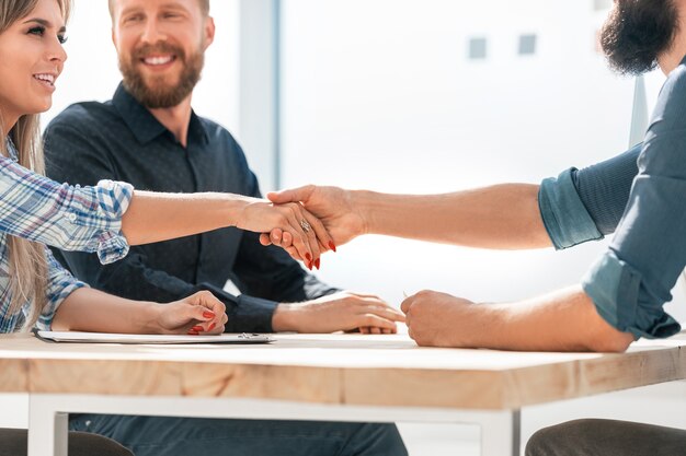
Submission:
{"label": "whole light wooden table with white frame and legs", "polygon": [[0,391],[28,393],[28,455],[66,456],[69,412],[481,425],[518,455],[523,407],[686,377],[681,338],[624,354],[418,348],[407,336],[268,346],[48,343],[0,336]]}

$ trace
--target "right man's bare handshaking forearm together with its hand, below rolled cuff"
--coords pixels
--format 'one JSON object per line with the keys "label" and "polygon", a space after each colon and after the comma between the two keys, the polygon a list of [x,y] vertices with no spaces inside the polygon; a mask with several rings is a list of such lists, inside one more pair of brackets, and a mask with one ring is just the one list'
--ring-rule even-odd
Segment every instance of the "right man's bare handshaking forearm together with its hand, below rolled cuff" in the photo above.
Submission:
{"label": "right man's bare handshaking forearm together with its hand, below rolled cuff", "polygon": [[[301,201],[324,223],[335,245],[362,234],[386,234],[472,247],[519,249],[551,245],[537,195],[537,185],[505,184],[426,196],[306,186],[267,197],[275,203]],[[263,235],[261,241],[266,244],[270,238]]]}

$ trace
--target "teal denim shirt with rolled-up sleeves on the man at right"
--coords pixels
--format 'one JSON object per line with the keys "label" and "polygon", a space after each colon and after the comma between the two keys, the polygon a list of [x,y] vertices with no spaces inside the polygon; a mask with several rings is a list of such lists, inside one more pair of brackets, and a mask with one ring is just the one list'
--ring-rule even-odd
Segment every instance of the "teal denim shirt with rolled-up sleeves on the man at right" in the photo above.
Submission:
{"label": "teal denim shirt with rolled-up sleeves on the man at right", "polygon": [[686,267],[685,61],[670,73],[644,141],[588,169],[545,179],[539,209],[558,249],[602,238],[616,222],[613,242],[582,279],[607,323],[636,338],[681,330],[663,305]]}

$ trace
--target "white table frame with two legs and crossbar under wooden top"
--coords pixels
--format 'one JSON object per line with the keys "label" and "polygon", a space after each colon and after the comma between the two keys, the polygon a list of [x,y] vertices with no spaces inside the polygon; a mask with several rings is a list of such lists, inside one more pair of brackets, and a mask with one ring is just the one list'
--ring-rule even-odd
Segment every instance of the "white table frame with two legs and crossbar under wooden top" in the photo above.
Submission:
{"label": "white table frame with two legs and crossbar under wooden top", "polygon": [[328,406],[279,400],[30,395],[28,456],[67,456],[67,412],[162,417],[479,424],[481,456],[519,456],[519,410],[458,411],[402,407]]}

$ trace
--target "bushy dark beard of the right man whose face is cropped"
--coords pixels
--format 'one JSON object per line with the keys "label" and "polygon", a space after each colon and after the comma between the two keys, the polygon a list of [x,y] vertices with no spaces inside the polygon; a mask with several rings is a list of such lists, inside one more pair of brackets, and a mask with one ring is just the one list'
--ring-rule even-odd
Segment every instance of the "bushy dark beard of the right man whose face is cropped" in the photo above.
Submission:
{"label": "bushy dark beard of the right man whose face is cropped", "polygon": [[641,74],[658,66],[678,25],[674,0],[616,0],[601,31],[601,46],[613,70]]}

